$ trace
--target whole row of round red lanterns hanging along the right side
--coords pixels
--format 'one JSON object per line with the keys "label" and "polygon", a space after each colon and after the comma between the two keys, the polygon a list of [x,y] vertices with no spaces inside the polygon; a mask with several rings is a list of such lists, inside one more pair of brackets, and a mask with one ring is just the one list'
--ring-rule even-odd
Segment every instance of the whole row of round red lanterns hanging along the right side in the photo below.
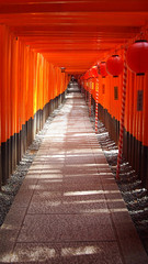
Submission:
{"label": "whole row of round red lanterns hanging along the right side", "polygon": [[[145,75],[148,70],[148,43],[146,40],[136,41],[127,50],[126,63],[136,75]],[[106,62],[101,62],[89,69],[81,79],[105,78],[107,75],[118,77],[124,68],[124,62],[117,54],[112,55]]]}

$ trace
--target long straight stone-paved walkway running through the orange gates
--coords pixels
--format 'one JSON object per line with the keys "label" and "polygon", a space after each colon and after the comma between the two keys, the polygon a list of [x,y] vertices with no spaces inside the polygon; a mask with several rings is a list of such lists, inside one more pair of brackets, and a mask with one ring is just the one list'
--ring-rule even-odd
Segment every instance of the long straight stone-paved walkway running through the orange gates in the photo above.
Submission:
{"label": "long straight stone-paved walkway running through the orange gates", "polygon": [[146,264],[80,94],[68,94],[0,231],[0,263]]}

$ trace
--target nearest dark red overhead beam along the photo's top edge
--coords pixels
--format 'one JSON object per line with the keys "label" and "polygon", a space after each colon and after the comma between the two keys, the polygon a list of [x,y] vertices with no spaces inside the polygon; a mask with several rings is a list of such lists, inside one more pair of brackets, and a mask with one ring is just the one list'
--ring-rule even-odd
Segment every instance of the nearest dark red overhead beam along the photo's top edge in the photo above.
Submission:
{"label": "nearest dark red overhead beam along the photo's top edge", "polygon": [[18,2],[18,3],[1,3],[0,13],[50,13],[50,12],[144,12],[148,10],[147,0],[121,0],[116,3],[115,0],[107,1],[62,1],[62,2]]}

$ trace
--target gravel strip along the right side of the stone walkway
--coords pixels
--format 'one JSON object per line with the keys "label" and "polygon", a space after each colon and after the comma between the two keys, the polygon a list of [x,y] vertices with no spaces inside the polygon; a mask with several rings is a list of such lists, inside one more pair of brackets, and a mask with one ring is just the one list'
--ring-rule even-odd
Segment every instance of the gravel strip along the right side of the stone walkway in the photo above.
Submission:
{"label": "gravel strip along the right side of the stone walkway", "polygon": [[[91,112],[92,114],[90,120],[93,129],[95,129],[93,108]],[[96,136],[115,177],[118,150],[115,142],[111,140],[107,130],[101,121],[98,123]],[[119,177],[121,179],[116,180],[116,183],[148,254],[148,190],[143,187],[141,180],[124,157],[122,158]]]}

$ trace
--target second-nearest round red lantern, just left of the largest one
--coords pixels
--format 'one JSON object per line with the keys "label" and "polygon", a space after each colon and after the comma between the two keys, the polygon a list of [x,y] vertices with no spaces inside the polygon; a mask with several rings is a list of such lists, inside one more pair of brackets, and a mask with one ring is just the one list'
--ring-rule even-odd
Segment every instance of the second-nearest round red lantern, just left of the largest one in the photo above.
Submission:
{"label": "second-nearest round red lantern, just left of the largest one", "polygon": [[106,70],[113,77],[118,77],[123,72],[123,59],[118,55],[113,55],[106,62]]}

